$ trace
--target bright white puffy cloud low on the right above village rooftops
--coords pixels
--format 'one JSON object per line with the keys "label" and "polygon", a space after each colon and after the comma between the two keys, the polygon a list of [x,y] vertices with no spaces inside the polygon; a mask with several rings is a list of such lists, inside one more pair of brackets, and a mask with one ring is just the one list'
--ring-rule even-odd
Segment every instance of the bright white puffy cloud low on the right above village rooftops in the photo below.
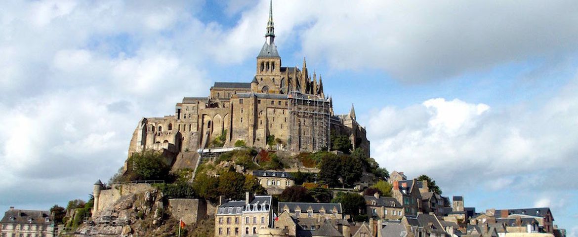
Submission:
{"label": "bright white puffy cloud low on the right above village rooftops", "polygon": [[449,190],[576,190],[569,180],[578,178],[577,82],[536,106],[436,98],[375,110],[368,121],[372,154],[390,170],[428,173]]}

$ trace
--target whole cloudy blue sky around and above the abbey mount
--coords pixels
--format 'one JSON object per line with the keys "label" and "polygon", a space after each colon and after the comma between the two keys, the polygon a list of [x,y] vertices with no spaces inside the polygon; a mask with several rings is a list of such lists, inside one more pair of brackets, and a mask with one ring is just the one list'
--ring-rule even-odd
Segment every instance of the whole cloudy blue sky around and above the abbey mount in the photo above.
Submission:
{"label": "whole cloudy blue sky around and above the abbey mount", "polygon": [[[269,1],[0,2],[0,209],[87,199],[141,117],[250,82]],[[353,103],[371,154],[578,237],[576,1],[273,1],[284,66]]]}

